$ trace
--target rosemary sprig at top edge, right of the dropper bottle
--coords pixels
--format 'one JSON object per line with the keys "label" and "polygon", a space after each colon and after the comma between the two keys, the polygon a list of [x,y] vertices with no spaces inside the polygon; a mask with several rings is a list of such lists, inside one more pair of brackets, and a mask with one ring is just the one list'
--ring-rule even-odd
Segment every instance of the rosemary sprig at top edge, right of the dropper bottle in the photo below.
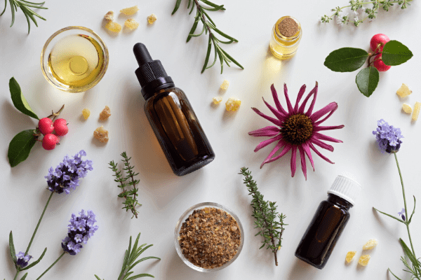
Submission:
{"label": "rosemary sprig at top edge, right of the dropper bottle", "polygon": [[[201,6],[199,1],[205,3],[207,6]],[[177,2],[175,3],[175,8],[173,10],[172,15],[178,10],[178,8],[180,8],[180,3],[181,3],[181,0],[177,0]],[[190,8],[190,6],[192,6],[192,8]],[[230,66],[229,65],[230,62],[233,62],[234,64],[239,66],[241,69],[244,69],[244,67],[241,66],[241,64],[239,64],[239,62],[236,62],[236,60],[234,58],[232,58],[232,56],[229,55],[225,50],[223,50],[219,45],[220,43],[230,44],[230,43],[238,42],[238,40],[236,40],[236,38],[232,38],[232,36],[228,36],[227,34],[225,34],[222,31],[220,31],[220,29],[218,29],[216,27],[215,22],[213,22],[213,20],[209,17],[208,13],[206,13],[206,10],[212,11],[212,12],[217,11],[217,10],[225,10],[224,5],[217,5],[217,4],[212,3],[208,0],[189,0],[189,3],[187,5],[187,8],[190,8],[189,14],[191,14],[193,12],[195,6],[196,6],[196,15],[194,16],[193,27],[192,27],[192,29],[190,29],[189,36],[187,36],[187,42],[190,41],[190,39],[192,37],[201,36],[201,34],[203,34],[203,32],[205,34],[209,34],[208,51],[206,52],[205,63],[203,64],[203,68],[202,68],[201,73],[203,73],[203,71],[205,71],[206,69],[215,65],[218,57],[220,59],[220,64],[221,64],[221,73],[224,71],[224,62],[228,66]],[[197,28],[197,25],[199,24],[199,21],[202,23],[203,28],[202,28],[202,30],[199,34],[194,34],[194,31],[196,31],[196,28]],[[222,41],[221,39],[217,38],[215,36],[214,32],[219,34],[220,36],[228,39],[228,41]],[[210,57],[210,52],[212,50],[212,45],[213,45],[213,50],[215,52],[215,55],[214,55],[215,57],[213,58],[212,64],[209,65],[209,57]]]}

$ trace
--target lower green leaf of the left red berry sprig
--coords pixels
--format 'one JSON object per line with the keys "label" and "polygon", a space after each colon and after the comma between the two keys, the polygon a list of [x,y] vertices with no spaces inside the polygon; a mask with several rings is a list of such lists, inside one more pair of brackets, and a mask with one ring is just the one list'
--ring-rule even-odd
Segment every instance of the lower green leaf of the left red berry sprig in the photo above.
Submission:
{"label": "lower green leaf of the left red berry sprig", "polygon": [[36,137],[34,136],[34,130],[24,130],[16,134],[9,144],[7,153],[11,167],[15,167],[20,162],[26,160],[35,143]]}

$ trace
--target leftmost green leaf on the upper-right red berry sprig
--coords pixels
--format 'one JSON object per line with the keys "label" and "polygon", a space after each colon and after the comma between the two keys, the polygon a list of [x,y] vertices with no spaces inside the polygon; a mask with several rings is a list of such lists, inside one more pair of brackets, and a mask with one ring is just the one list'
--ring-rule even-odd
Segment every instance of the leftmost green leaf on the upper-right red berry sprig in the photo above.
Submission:
{"label": "leftmost green leaf on the upper-right red berry sprig", "polygon": [[324,65],[335,72],[352,72],[363,66],[368,52],[361,48],[340,48],[330,52]]}

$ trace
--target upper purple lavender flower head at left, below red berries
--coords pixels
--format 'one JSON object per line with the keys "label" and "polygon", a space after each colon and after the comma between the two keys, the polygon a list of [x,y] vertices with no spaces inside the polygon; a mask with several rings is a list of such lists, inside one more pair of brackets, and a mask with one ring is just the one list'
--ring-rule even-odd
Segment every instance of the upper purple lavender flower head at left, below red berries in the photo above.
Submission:
{"label": "upper purple lavender flower head at left, below red berries", "polygon": [[73,158],[65,156],[63,162],[58,167],[50,167],[47,179],[48,190],[53,193],[70,193],[70,189],[76,189],[79,186],[79,179],[86,176],[88,171],[92,170],[91,160],[81,160],[86,155],[85,151],[76,153]]}

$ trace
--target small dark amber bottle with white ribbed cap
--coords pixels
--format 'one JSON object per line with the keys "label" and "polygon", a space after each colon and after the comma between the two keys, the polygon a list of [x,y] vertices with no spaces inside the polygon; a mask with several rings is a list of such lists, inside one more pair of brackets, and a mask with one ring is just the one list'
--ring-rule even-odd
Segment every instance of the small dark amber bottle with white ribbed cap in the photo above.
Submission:
{"label": "small dark amber bottle with white ribbed cap", "polygon": [[295,256],[322,269],[342,230],[349,221],[348,210],[354,205],[361,186],[352,174],[338,176],[328,190],[328,200],[319,204],[312,222],[302,237]]}

